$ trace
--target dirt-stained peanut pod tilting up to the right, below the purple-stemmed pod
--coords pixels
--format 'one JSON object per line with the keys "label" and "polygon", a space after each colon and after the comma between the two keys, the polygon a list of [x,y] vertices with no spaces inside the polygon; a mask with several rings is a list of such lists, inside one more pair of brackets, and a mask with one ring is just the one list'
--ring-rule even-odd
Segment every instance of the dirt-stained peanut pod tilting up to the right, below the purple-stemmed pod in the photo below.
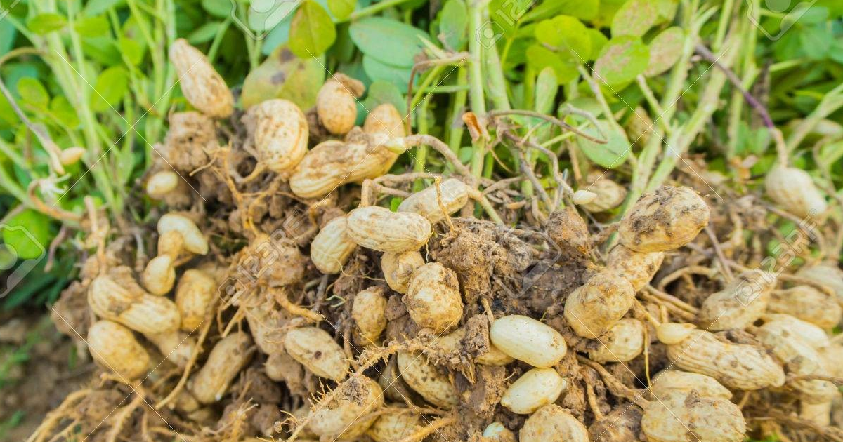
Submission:
{"label": "dirt-stained peanut pod tilting up to the right, below the purple-stemmed pod", "polygon": [[701,328],[712,332],[747,328],[766,311],[776,275],[760,270],[738,274],[723,290],[712,293],[697,314]]}

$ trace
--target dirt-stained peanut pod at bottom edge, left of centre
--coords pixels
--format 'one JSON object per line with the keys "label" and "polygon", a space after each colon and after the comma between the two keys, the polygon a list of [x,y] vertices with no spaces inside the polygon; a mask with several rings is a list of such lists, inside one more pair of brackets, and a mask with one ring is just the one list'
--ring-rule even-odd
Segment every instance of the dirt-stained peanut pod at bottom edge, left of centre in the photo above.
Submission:
{"label": "dirt-stained peanut pod at bottom edge, left of centre", "polygon": [[353,376],[338,386],[340,391],[325,407],[313,414],[309,428],[321,440],[354,439],[366,433],[384,406],[384,393],[378,382],[366,376]]}

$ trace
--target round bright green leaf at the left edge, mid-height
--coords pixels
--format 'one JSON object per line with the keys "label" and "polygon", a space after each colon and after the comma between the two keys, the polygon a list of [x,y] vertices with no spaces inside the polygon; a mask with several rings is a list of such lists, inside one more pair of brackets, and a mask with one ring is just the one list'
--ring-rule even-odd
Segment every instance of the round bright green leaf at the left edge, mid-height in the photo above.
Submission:
{"label": "round bright green leaf at the left edge, mid-height", "polygon": [[52,237],[50,218],[31,209],[21,211],[0,228],[3,242],[20,259],[43,258]]}

